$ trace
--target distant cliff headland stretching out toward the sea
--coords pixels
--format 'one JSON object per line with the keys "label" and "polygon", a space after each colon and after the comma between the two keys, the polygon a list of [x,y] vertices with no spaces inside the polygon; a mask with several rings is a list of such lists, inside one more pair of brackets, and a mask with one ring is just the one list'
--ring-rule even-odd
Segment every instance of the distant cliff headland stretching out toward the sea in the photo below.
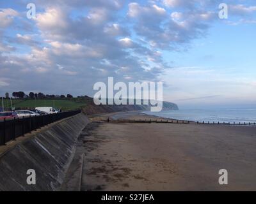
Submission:
{"label": "distant cliff headland stretching out toward the sea", "polygon": [[[178,110],[175,103],[163,101],[163,110]],[[125,112],[131,110],[150,110],[150,105],[95,105],[92,98],[82,108],[83,112],[90,115],[96,113]]]}

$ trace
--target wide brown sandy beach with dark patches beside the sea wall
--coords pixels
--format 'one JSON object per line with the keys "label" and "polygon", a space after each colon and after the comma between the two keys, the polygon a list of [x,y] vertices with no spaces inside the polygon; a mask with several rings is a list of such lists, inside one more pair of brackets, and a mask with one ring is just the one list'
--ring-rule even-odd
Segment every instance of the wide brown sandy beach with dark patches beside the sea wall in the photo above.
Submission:
{"label": "wide brown sandy beach with dark patches beside the sea wall", "polygon": [[[155,119],[138,112],[101,117]],[[81,191],[255,191],[255,147],[255,126],[91,122],[63,191],[76,191],[80,174]],[[220,169],[228,185],[218,183]]]}

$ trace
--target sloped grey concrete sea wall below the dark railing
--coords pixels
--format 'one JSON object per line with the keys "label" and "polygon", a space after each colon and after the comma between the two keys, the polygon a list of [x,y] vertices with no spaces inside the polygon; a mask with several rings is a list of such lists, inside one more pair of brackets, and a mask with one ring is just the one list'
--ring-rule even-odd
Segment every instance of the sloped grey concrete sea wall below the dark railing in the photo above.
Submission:
{"label": "sloped grey concrete sea wall below the dark railing", "polygon": [[[74,145],[88,124],[83,113],[54,124],[0,157],[0,191],[58,191],[72,161]],[[27,170],[36,172],[28,185]]]}

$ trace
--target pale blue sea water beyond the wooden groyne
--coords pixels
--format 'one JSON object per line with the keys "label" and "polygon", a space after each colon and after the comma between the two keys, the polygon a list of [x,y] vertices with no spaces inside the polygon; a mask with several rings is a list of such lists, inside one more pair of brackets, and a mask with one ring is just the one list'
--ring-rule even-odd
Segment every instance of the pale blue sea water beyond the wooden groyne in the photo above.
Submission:
{"label": "pale blue sea water beyond the wooden groyne", "polygon": [[256,122],[256,108],[180,109],[144,113],[170,119],[199,122]]}

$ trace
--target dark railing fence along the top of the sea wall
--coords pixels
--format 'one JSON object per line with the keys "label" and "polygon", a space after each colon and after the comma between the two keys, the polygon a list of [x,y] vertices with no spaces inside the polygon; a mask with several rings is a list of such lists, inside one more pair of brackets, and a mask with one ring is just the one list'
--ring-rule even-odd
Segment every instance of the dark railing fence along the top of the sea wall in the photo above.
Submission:
{"label": "dark railing fence along the top of the sea wall", "polygon": [[52,122],[65,119],[72,115],[80,113],[81,110],[70,112],[54,113],[49,115],[40,115],[35,117],[22,117],[12,120],[0,121],[0,145],[4,145],[10,140],[15,140],[19,136],[24,136],[26,133],[41,128]]}

